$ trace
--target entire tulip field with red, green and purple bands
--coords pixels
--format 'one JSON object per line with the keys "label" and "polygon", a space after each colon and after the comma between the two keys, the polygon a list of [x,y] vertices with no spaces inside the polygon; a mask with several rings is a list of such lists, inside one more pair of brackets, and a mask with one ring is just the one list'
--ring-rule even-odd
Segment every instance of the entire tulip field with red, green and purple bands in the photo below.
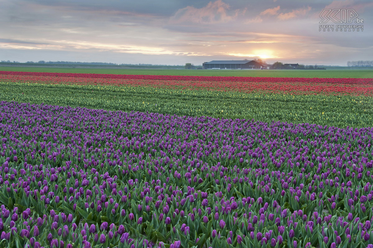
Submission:
{"label": "entire tulip field with red, green and purple bands", "polygon": [[373,79],[0,72],[0,247],[373,248]]}

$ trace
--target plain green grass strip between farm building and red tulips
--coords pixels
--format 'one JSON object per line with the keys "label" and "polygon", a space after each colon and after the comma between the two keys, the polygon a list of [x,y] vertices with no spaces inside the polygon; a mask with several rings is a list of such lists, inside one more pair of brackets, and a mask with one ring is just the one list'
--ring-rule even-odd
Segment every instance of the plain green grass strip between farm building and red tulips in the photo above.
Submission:
{"label": "plain green grass strip between farm building and red tulips", "polygon": [[30,71],[48,73],[97,73],[129,75],[188,75],[235,77],[317,77],[317,78],[373,78],[373,69],[331,70],[155,70],[155,69],[98,69],[98,68],[41,68],[0,67],[0,71]]}

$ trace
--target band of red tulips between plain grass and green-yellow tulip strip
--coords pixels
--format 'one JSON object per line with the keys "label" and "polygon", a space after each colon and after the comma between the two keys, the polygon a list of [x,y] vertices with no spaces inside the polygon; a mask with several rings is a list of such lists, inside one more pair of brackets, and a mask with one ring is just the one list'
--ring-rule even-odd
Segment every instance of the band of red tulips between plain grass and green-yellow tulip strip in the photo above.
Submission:
{"label": "band of red tulips between plain grass and green-yellow tulip strip", "polygon": [[372,78],[202,77],[0,71],[0,80],[48,84],[68,83],[151,86],[172,89],[210,89],[242,91],[245,93],[262,92],[373,96]]}

